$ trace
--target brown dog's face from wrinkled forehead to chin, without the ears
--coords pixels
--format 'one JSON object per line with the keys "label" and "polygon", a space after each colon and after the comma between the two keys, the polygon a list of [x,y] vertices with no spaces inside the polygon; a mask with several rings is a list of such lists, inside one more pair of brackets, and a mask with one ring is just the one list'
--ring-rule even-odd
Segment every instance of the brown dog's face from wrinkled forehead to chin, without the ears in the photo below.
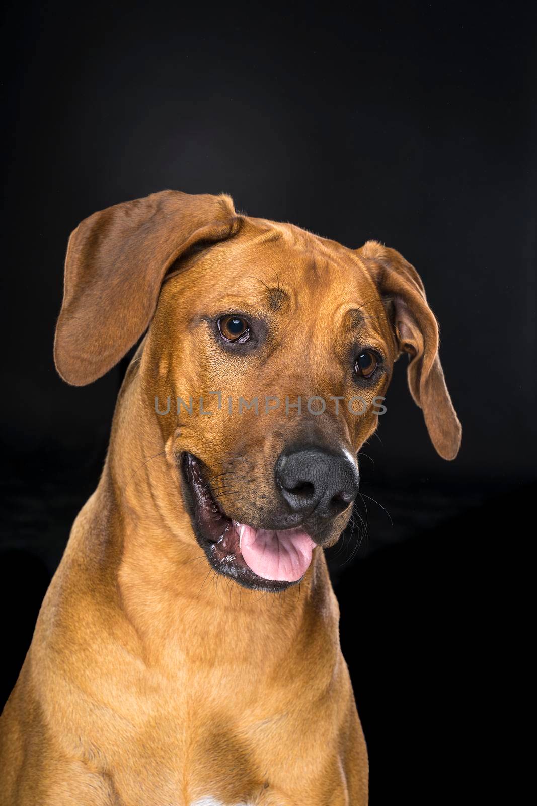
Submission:
{"label": "brown dog's face from wrinkled forehead to chin, without the ears", "polygon": [[329,546],[349,521],[357,451],[390,380],[396,347],[376,285],[351,250],[250,221],[164,283],[145,349],[209,559],[259,585],[237,544],[265,530],[264,555],[274,542],[279,557],[251,558],[255,569],[279,588],[299,580],[304,535]]}

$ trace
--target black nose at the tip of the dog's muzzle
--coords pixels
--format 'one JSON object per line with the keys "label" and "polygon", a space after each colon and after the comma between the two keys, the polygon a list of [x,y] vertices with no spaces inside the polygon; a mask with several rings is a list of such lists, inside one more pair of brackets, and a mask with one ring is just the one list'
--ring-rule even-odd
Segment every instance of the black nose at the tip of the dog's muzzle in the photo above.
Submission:
{"label": "black nose at the tip of the dog's muzzle", "polygon": [[312,512],[334,517],[343,512],[358,494],[360,477],[345,454],[322,448],[305,448],[283,453],[275,467],[276,484],[295,513]]}

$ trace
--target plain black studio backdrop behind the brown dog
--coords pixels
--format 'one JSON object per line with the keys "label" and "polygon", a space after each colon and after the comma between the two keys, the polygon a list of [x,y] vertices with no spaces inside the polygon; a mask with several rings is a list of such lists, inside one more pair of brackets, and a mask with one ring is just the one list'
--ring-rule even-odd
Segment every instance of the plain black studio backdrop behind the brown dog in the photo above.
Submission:
{"label": "plain black studio backdrop behind the brown dog", "polygon": [[477,800],[535,496],[534,39],[529,6],[498,2],[8,4],[4,696],[125,369],[81,389],[56,376],[68,235],[160,189],[226,192],[349,247],[379,239],[423,278],[461,454],[436,456],[402,359],[361,460],[367,534],[330,562],[371,803]]}

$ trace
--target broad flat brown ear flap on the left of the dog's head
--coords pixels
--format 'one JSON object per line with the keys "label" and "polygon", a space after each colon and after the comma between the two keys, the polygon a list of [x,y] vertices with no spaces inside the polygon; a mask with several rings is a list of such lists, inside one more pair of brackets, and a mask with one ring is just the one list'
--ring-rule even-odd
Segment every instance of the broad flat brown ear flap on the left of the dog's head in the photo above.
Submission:
{"label": "broad flat brown ear flap on the left of the dog's head", "polygon": [[240,218],[221,193],[172,190],[108,207],[69,238],[54,360],[75,386],[114,367],[151,322],[167,270],[189,247],[233,235]]}

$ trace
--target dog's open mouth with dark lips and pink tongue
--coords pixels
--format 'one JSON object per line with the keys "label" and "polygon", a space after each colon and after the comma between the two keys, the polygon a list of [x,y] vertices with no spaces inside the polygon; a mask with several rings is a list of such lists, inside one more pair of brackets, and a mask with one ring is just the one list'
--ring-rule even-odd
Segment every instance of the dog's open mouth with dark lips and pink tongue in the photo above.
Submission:
{"label": "dog's open mouth with dark lips and pink tongue", "polygon": [[209,489],[202,463],[189,453],[183,472],[192,526],[209,563],[246,588],[281,591],[299,582],[312,562],[316,546],[300,527],[258,529],[226,515]]}

